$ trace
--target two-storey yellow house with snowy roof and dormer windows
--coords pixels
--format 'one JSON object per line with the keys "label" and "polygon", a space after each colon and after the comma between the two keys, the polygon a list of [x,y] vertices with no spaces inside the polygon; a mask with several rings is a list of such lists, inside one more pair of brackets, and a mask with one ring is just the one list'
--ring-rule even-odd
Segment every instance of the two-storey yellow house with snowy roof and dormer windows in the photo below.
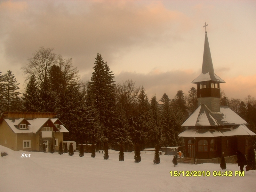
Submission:
{"label": "two-storey yellow house with snowy roof and dormer windows", "polygon": [[56,113],[4,112],[0,117],[0,145],[14,151],[49,152],[53,143],[59,150],[63,133],[68,130],[55,118]]}

